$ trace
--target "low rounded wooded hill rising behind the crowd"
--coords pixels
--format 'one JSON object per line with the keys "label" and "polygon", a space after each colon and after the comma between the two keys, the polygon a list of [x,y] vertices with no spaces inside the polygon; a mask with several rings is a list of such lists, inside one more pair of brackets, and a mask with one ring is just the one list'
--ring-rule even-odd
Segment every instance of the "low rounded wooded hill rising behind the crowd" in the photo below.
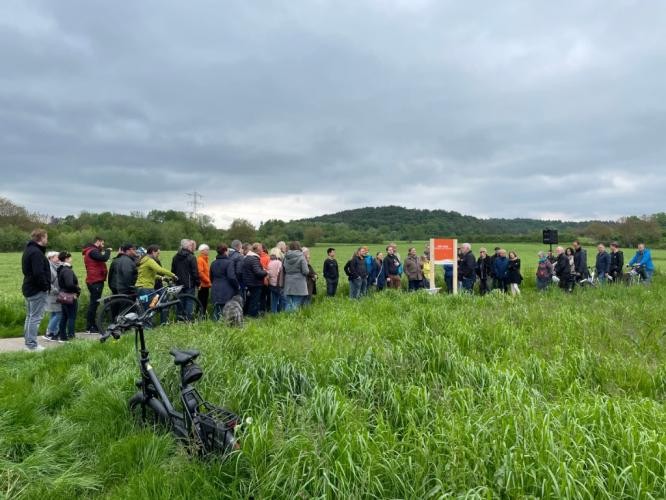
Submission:
{"label": "low rounded wooded hill rising behind the crowd", "polygon": [[[276,221],[277,222],[277,221]],[[271,221],[267,224],[270,225]],[[358,242],[421,240],[451,236],[474,241],[533,240],[542,229],[558,229],[567,238],[581,234],[590,221],[480,219],[447,210],[418,210],[398,206],[365,207],[282,223],[282,231],[300,236],[313,227],[319,241]],[[270,229],[262,227],[263,230]],[[307,236],[307,235],[306,235]],[[302,236],[301,236],[302,237]],[[307,239],[307,238],[306,238]]]}

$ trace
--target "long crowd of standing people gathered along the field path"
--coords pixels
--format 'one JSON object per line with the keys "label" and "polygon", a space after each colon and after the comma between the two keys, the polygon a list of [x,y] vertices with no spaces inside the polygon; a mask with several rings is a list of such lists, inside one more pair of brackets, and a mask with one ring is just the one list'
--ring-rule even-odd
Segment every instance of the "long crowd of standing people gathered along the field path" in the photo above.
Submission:
{"label": "long crowd of standing people gathered along the field path", "polygon": [[[44,338],[68,342],[74,337],[81,287],[72,267],[69,252],[46,251],[48,234],[36,229],[26,245],[22,257],[23,286],[26,299],[24,336],[26,349],[43,349],[37,342],[38,328],[46,312],[50,313]],[[83,262],[85,284],[90,296],[86,311],[86,331],[98,333],[96,327],[99,299],[105,283],[113,294],[137,294],[152,296],[162,288],[162,280],[170,278],[182,286],[182,293],[196,295],[202,310],[209,306],[214,319],[220,319],[225,304],[238,300],[244,306],[244,314],[257,317],[268,312],[293,311],[312,302],[317,294],[318,274],[310,262],[310,250],[298,241],[287,245],[278,242],[270,250],[262,243],[243,243],[239,240],[230,246],[220,244],[217,255],[209,260],[210,247],[197,247],[191,239],[183,239],[174,255],[170,269],[163,267],[160,248],[147,248],[127,243],[122,245],[111,259],[111,249],[105,247],[102,237],[85,245]],[[197,254],[198,253],[198,254]],[[110,264],[108,264],[110,261]],[[108,264],[108,266],[107,266]],[[454,290],[454,263],[443,265],[446,290]],[[646,283],[654,273],[650,250],[639,244],[630,266],[636,266]],[[623,274],[624,255],[617,243],[610,245],[610,252],[603,244],[597,246],[593,272],[599,283],[620,282]],[[395,243],[386,247],[386,253],[369,254],[368,247],[359,247],[344,264],[343,272],[349,282],[349,296],[358,299],[369,290],[401,289],[403,275],[407,290],[429,289],[431,262],[429,250],[421,255],[410,247],[404,262]],[[472,245],[463,243],[458,248],[458,287],[465,293],[474,293],[478,281],[478,293],[485,295],[492,290],[520,294],[523,281],[521,262],[515,251],[496,247],[492,255],[485,248],[475,257]],[[577,283],[589,277],[587,252],[579,241],[571,247],[557,247],[555,255],[539,252],[536,269],[536,286],[545,290],[558,283],[567,291],[573,291]],[[334,248],[327,249],[322,275],[326,282],[326,295],[335,296],[340,280],[339,266]],[[192,303],[185,307],[192,307]],[[186,311],[191,314],[192,311]]]}

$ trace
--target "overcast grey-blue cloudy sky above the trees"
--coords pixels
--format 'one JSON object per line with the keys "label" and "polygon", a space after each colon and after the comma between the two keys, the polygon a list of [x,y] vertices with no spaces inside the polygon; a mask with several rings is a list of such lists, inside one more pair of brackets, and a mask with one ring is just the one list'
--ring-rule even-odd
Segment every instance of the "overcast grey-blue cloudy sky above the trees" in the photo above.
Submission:
{"label": "overcast grey-blue cloudy sky above the trees", "polygon": [[3,0],[0,196],[226,227],[664,211],[666,2]]}

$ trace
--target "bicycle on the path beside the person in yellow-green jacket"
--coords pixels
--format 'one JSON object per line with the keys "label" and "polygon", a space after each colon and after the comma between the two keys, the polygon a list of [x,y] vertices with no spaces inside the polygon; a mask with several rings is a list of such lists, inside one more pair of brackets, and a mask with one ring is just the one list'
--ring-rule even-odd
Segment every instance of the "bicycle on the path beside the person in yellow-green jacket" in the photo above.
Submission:
{"label": "bicycle on the path beside the person in yellow-green jacket", "polygon": [[[192,294],[181,293],[183,286],[174,285],[174,281],[170,278],[163,278],[163,281],[166,283],[165,286],[149,294],[141,296],[137,294],[115,294],[100,299],[102,307],[97,313],[98,330],[106,332],[109,325],[113,324],[118,316],[124,316],[130,312],[140,316],[151,307],[159,307],[161,310],[155,318],[155,323],[158,325],[197,321],[202,318],[203,308],[197,297]],[[174,300],[176,301],[174,305],[166,308],[162,307],[165,302],[173,302]]]}

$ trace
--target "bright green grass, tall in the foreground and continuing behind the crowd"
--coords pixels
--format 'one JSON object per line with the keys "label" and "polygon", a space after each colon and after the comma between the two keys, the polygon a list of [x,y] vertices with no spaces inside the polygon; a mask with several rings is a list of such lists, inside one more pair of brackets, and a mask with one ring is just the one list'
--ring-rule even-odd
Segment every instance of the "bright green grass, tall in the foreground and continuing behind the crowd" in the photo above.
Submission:
{"label": "bright green grass, tall in the foreground and continuing behind the crowd", "polygon": [[[337,248],[344,263],[352,247]],[[528,278],[520,297],[350,301],[341,290],[242,330],[151,331],[171,394],[168,350],[198,348],[202,393],[253,418],[225,462],[193,459],[128,420],[130,335],[0,355],[0,497],[666,496],[663,277],[538,294],[539,247],[515,248]],[[0,255],[12,310],[17,259]]]}

